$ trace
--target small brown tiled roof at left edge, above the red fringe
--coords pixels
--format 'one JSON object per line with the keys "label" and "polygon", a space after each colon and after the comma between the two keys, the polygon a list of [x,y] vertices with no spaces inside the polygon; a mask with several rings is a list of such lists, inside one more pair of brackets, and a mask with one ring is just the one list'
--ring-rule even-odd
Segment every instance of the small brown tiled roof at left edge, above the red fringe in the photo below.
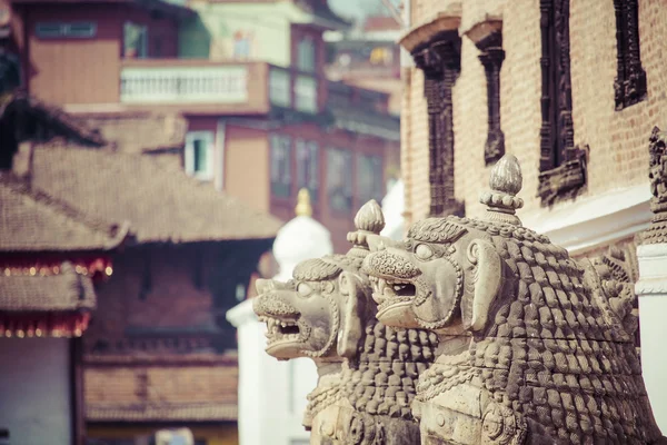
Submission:
{"label": "small brown tiled roof at left edge, above the red fringe", "polygon": [[0,251],[108,250],[126,234],[0,174]]}

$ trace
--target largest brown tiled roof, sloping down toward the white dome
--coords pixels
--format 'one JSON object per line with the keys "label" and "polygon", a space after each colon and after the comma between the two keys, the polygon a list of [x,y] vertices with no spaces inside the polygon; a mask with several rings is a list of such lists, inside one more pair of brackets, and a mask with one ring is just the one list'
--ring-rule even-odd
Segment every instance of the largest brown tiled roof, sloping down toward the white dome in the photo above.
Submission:
{"label": "largest brown tiled roof, sloping down toward the white dome", "polygon": [[273,238],[281,222],[147,155],[37,147],[32,184],[89,215],[129,220],[139,243]]}

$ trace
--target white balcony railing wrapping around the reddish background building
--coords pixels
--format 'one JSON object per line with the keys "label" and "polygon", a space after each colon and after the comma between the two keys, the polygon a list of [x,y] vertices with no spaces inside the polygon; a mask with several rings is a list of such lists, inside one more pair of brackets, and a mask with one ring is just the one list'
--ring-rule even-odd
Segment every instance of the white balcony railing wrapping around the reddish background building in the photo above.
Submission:
{"label": "white balcony railing wrapping around the reddish background building", "polygon": [[138,107],[263,113],[276,106],[316,115],[325,101],[376,110],[382,108],[385,96],[258,61],[126,59],[120,70],[120,102]]}

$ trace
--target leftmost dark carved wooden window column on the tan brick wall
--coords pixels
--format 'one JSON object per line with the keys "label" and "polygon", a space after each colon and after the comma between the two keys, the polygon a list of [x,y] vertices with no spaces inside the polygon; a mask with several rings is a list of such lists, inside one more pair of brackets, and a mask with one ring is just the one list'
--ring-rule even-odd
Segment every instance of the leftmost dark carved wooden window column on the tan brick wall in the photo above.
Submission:
{"label": "leftmost dark carved wooden window column on the tan brick wall", "polygon": [[461,40],[457,31],[445,31],[412,51],[425,75],[429,132],[430,215],[462,215],[454,197],[452,88],[460,72]]}

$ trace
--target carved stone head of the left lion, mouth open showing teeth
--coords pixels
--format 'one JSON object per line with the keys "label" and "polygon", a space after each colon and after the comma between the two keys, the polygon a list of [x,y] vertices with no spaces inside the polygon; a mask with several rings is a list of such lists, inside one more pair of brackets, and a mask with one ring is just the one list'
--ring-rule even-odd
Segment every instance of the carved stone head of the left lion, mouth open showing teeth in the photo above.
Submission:
{"label": "carved stone head of the left lion, mouth open showing teeth", "polygon": [[253,309],[267,323],[267,353],[279,359],[340,359],[357,350],[370,285],[361,259],[328,256],[300,263],[289,283],[258,280]]}

